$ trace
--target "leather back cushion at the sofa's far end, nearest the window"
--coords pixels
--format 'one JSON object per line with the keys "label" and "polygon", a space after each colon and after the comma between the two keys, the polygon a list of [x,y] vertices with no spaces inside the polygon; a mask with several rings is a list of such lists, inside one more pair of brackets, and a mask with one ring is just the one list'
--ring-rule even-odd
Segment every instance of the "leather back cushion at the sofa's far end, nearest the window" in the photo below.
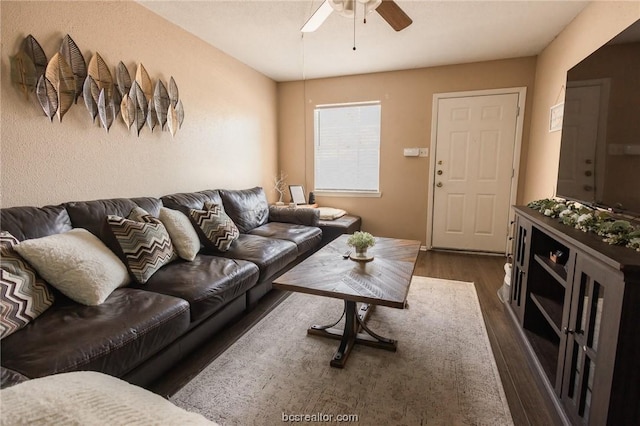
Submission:
{"label": "leather back cushion at the sofa's far end, nearest the window", "polygon": [[246,234],[269,220],[269,203],[264,189],[221,189],[218,192],[224,203],[224,211],[241,233]]}

